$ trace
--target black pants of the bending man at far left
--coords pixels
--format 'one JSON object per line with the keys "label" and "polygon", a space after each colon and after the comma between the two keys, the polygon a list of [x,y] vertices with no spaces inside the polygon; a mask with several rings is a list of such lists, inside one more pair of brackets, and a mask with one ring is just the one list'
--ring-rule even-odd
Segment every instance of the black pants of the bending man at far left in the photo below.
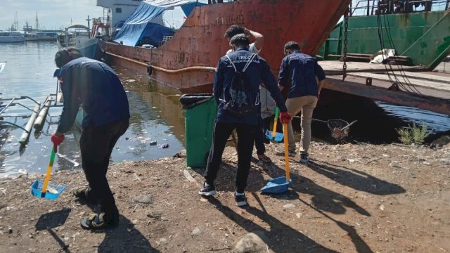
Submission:
{"label": "black pants of the bending man at far left", "polygon": [[127,131],[128,126],[129,119],[103,126],[88,126],[83,129],[79,139],[83,170],[90,188],[89,199],[100,202],[101,211],[105,213],[105,221],[119,218],[119,211],[108,185],[106,172],[114,145]]}

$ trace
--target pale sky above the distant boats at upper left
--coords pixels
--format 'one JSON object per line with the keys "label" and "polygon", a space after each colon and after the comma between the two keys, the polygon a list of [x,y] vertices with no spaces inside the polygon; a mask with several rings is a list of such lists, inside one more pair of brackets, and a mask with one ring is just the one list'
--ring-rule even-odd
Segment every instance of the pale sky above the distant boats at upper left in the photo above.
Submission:
{"label": "pale sky above the distant boats at upper left", "polygon": [[0,30],[8,30],[17,12],[18,30],[25,22],[35,28],[36,12],[41,30],[53,30],[72,25],[87,25],[86,18],[99,18],[103,8],[96,0],[0,0]]}

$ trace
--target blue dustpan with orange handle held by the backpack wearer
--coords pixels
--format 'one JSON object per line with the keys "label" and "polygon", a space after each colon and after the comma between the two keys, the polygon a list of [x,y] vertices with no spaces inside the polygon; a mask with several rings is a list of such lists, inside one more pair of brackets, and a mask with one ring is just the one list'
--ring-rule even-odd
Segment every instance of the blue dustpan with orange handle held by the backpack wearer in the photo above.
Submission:
{"label": "blue dustpan with orange handle held by the backpack wearer", "polygon": [[261,188],[262,193],[274,193],[274,194],[285,193],[285,191],[288,190],[290,184],[293,182],[292,179],[290,179],[289,174],[288,124],[283,124],[283,130],[286,133],[286,138],[284,138],[284,160],[285,160],[286,176],[281,176],[267,182],[266,186]]}

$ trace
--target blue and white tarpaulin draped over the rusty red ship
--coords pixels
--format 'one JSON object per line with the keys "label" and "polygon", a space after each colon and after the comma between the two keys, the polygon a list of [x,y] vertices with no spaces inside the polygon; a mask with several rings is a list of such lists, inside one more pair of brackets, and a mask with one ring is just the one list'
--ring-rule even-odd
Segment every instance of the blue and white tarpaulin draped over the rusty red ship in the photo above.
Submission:
{"label": "blue and white tarpaulin draped over the rusty red ship", "polygon": [[[194,0],[145,0],[139,4],[136,11],[132,13],[125,21],[120,31],[115,36],[114,41],[122,43],[127,46],[136,46],[139,41],[150,39],[151,41],[160,42],[162,37],[169,34],[167,29],[155,24],[148,25],[153,19],[161,15],[167,9],[172,9],[176,6],[181,7],[185,15],[188,16],[193,11],[195,6],[202,6],[204,4],[198,3]],[[151,38],[148,35],[151,34]],[[172,35],[172,34],[171,34]]]}

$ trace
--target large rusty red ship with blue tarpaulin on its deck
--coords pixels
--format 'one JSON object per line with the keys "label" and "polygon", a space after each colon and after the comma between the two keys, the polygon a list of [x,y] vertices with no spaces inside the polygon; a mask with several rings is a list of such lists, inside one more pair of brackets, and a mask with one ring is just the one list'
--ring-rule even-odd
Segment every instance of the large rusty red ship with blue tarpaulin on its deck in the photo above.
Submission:
{"label": "large rusty red ship with blue tarpaulin on its deck", "polygon": [[[148,74],[150,79],[181,92],[211,92],[217,61],[229,49],[224,32],[230,25],[262,33],[265,39],[261,56],[278,73],[285,42],[298,41],[304,53],[315,55],[349,2],[240,0],[201,4],[195,0],[144,0],[114,41],[106,43],[105,51],[110,62]],[[162,36],[157,47],[143,47],[141,39],[148,31],[148,23],[158,24],[162,13],[174,7],[186,14],[184,24],[173,36]]]}

